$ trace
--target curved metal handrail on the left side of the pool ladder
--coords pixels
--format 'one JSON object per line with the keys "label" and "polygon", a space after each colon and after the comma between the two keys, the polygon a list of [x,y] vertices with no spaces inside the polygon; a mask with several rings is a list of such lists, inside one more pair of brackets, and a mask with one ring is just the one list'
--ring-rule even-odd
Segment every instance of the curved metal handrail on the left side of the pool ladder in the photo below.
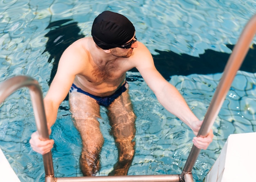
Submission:
{"label": "curved metal handrail on the left side of the pool ladder", "polygon": [[[36,120],[36,128],[40,140],[49,139],[45,108],[43,105],[43,94],[36,80],[26,76],[16,76],[0,83],[0,103],[21,87],[29,88]],[[54,182],[54,169],[51,151],[43,155],[43,163],[45,167],[45,182]]]}

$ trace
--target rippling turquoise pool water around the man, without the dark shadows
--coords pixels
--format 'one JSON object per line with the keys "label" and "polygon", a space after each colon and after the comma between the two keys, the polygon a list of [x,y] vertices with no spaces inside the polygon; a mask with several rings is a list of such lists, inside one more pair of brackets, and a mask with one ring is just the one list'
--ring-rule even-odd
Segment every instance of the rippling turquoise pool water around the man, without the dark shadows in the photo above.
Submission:
{"label": "rippling turquoise pool water around the man, without the dark shadows", "polygon": [[[253,0],[3,0],[0,2],[0,81],[28,75],[38,80],[46,94],[54,66],[53,61],[47,62],[51,53],[44,53],[48,41],[45,34],[54,29],[47,29],[51,22],[72,19],[70,22],[77,22],[81,29],[79,34],[89,36],[94,18],[104,10],[111,10],[126,15],[134,23],[136,37],[153,55],[166,51],[199,57],[207,49],[231,53],[227,44],[236,44],[255,7]],[[162,56],[162,59],[168,61],[171,57]],[[169,82],[184,96],[196,116],[203,119],[221,73],[186,76],[170,73],[169,76]],[[195,181],[203,180],[229,134],[255,132],[255,76],[254,72],[238,72],[213,125],[213,143],[201,151],[192,171]],[[128,174],[180,174],[192,147],[193,133],[164,110],[137,72],[128,72],[127,77],[137,115],[136,153]],[[51,136],[55,140],[54,172],[56,177],[81,176],[81,139],[71,122],[67,101],[61,106]],[[105,143],[98,175],[107,175],[117,160],[105,111],[102,108],[100,123]],[[28,142],[35,130],[29,92],[22,88],[0,105],[0,148],[22,182],[44,180],[42,157],[31,150]]]}

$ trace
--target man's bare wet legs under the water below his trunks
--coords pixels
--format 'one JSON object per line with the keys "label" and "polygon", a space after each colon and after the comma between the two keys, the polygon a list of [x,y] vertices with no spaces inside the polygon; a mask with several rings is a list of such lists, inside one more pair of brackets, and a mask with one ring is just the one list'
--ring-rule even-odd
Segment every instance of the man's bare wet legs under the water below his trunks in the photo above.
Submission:
{"label": "man's bare wet legs under the water below his trunks", "polygon": [[[90,96],[69,93],[70,111],[83,143],[80,165],[84,176],[95,176],[100,169],[99,153],[104,143],[99,128],[100,106]],[[107,107],[118,161],[109,175],[127,175],[134,156],[135,119],[128,89]]]}

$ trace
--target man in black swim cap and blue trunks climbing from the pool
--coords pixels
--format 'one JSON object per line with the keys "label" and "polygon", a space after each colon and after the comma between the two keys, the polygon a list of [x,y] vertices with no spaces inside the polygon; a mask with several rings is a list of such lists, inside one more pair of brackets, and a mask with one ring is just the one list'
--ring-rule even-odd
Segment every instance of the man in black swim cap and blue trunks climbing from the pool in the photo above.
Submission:
{"label": "man in black swim cap and blue trunks climbing from the pool", "polygon": [[[156,70],[149,50],[137,41],[135,28],[123,15],[104,11],[95,18],[92,37],[70,45],[63,53],[56,76],[45,96],[48,126],[57,117],[58,107],[69,92],[69,103],[83,147],[80,164],[83,175],[99,171],[99,153],[104,139],[99,128],[100,105],[108,109],[112,134],[119,158],[109,175],[127,175],[134,156],[135,114],[128,94],[126,72],[137,68],[158,101],[180,118],[196,134],[201,121],[191,112],[177,89]],[[206,149],[213,138],[194,137],[193,143]],[[44,154],[53,147],[53,140],[41,141],[38,132],[31,136],[34,151]]]}

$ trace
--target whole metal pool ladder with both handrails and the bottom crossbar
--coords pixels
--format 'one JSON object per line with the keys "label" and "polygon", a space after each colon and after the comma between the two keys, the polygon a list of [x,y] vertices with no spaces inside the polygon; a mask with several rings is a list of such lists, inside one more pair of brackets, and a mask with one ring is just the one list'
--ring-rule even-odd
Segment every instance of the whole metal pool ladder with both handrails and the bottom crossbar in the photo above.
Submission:
{"label": "whole metal pool ladder with both handrails and the bottom crossbar", "polygon": [[[213,99],[209,105],[207,113],[204,117],[202,126],[198,132],[198,136],[205,137],[209,133],[219,111],[222,107],[224,99],[229,91],[231,83],[236,76],[236,72],[240,68],[249,46],[256,33],[256,15],[247,23],[243,30],[232,54],[229,57],[225,70],[223,72],[220,83],[213,95]],[[0,84],[0,103],[4,101],[11,93],[21,87],[29,88],[32,107],[34,110],[36,127],[41,140],[49,139],[45,109],[43,105],[43,94],[38,82],[31,77],[16,76]],[[196,159],[200,153],[200,149],[193,145],[189,156],[186,160],[184,169],[180,175],[126,175],[126,176],[97,176],[97,177],[66,177],[55,178],[52,162],[52,152],[43,155],[43,163],[45,168],[45,182],[193,182],[192,169]]]}

